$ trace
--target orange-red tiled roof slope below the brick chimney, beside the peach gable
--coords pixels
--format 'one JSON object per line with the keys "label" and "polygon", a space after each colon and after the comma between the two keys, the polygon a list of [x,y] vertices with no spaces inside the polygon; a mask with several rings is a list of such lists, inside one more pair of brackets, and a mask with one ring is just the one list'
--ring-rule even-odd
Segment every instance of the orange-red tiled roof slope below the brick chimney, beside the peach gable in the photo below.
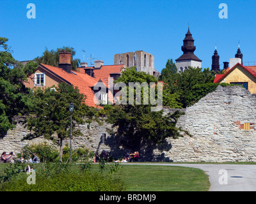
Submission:
{"label": "orange-red tiled roof slope below the brick chimney, beside the peach gable", "polygon": [[99,81],[97,78],[90,77],[89,75],[77,71],[67,73],[67,71],[64,71],[61,68],[56,68],[46,64],[39,64],[39,66],[50,71],[53,75],[57,75],[57,77],[60,77],[66,83],[72,84],[74,87],[78,87],[79,92],[86,95],[86,105],[100,108],[94,103],[94,93],[91,89],[91,87],[93,87]]}

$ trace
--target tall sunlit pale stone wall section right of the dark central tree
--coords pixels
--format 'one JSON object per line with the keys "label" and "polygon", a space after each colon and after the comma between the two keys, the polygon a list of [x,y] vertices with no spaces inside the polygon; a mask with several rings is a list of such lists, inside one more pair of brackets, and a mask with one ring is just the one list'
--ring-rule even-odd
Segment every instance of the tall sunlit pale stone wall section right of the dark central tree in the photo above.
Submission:
{"label": "tall sunlit pale stone wall section right of the dark central tree", "polygon": [[[155,150],[156,155],[174,162],[256,161],[254,94],[240,86],[219,86],[185,112],[177,126],[193,136],[168,139],[172,148],[165,152]],[[244,129],[246,123],[250,124],[249,130]]]}

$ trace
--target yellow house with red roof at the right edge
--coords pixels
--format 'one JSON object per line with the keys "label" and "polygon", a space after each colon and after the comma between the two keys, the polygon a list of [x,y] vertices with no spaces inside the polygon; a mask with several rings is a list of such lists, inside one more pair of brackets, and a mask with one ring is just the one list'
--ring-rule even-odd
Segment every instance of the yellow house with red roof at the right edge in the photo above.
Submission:
{"label": "yellow house with red roof at the right edge", "polygon": [[237,63],[233,68],[227,69],[225,74],[216,75],[213,83],[243,85],[251,94],[256,94],[256,67]]}

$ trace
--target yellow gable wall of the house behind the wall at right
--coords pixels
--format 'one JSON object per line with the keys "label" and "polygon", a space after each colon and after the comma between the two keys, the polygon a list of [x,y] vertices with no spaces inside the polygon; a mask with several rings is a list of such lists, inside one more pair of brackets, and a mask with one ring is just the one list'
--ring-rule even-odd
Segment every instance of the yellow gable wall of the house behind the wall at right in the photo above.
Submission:
{"label": "yellow gable wall of the house behind the wall at right", "polygon": [[230,71],[221,83],[223,82],[227,84],[231,82],[248,82],[248,91],[251,94],[256,94],[256,78],[239,65]]}

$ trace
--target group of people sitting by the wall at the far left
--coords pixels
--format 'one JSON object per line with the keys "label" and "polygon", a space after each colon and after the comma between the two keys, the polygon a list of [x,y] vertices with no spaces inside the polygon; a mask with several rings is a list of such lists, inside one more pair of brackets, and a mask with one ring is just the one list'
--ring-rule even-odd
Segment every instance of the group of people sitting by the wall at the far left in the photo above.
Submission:
{"label": "group of people sitting by the wall at the far left", "polygon": [[40,163],[40,159],[36,154],[33,154],[32,159],[29,157],[29,160],[26,160],[23,158],[23,154],[21,158],[17,158],[13,152],[10,152],[8,156],[6,155],[6,152],[3,152],[1,155],[0,163],[15,163],[15,161],[20,161],[21,163]]}

